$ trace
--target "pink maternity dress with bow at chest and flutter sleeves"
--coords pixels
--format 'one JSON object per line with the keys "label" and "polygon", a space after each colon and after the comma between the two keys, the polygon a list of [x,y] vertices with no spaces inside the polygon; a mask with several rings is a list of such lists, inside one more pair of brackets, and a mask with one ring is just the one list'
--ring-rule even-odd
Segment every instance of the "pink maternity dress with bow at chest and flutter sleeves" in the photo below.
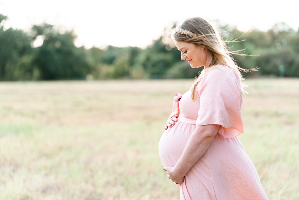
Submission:
{"label": "pink maternity dress with bow at chest and flutter sleeves", "polygon": [[[181,98],[180,98],[181,97]],[[237,136],[243,133],[242,92],[239,76],[230,67],[211,67],[190,91],[175,94],[176,124],[161,136],[159,154],[164,167],[175,166],[196,126],[219,124],[220,128],[203,156],[186,174],[180,199],[260,200],[268,199],[257,171]]]}

